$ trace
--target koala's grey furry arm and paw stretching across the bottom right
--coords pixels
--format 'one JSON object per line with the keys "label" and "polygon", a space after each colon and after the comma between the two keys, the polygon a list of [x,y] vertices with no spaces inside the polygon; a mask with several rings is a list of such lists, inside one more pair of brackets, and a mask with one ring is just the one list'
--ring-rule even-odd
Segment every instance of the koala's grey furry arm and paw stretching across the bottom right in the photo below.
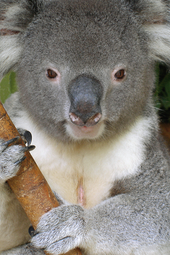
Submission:
{"label": "koala's grey furry arm and paw stretching across the bottom right", "polygon": [[79,205],[53,209],[42,217],[32,243],[51,254],[76,246],[90,255],[150,254],[149,249],[153,254],[169,254],[165,252],[170,251],[167,176],[161,169],[154,172],[156,181],[148,171],[141,172],[122,181],[134,186],[129,193],[108,198],[92,209]]}

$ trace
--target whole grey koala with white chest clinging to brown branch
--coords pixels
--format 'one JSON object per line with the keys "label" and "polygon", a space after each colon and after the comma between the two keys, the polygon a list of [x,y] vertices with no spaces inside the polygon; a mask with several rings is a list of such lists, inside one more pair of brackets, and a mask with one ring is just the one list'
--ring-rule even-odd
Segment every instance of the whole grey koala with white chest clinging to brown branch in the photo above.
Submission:
{"label": "whole grey koala with white chest clinging to brown branch", "polygon": [[[153,100],[169,12],[168,0],[0,0],[0,76],[18,83],[5,107],[28,143],[0,139],[1,255],[170,255],[170,156]],[[6,182],[30,134],[60,201],[32,237]]]}

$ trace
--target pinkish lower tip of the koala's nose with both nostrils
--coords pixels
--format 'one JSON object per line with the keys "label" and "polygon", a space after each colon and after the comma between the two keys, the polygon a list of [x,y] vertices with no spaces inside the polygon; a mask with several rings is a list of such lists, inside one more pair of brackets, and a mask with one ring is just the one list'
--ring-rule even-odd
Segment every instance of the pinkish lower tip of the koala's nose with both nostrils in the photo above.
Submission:
{"label": "pinkish lower tip of the koala's nose with both nostrils", "polygon": [[90,126],[96,125],[99,122],[99,120],[102,117],[102,114],[97,113],[97,114],[93,115],[92,117],[90,117],[86,122],[84,122],[80,117],[78,117],[73,112],[69,114],[69,117],[70,117],[71,122],[74,123],[75,125],[78,125],[78,126],[85,125],[87,127],[90,127]]}

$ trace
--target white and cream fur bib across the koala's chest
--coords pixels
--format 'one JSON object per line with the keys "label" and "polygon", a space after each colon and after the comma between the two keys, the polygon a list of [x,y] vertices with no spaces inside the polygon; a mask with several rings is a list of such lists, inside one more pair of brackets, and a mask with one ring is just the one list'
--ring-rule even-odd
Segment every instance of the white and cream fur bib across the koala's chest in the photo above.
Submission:
{"label": "white and cream fur bib across the koala's chest", "polygon": [[144,160],[144,141],[150,136],[150,120],[144,118],[107,143],[76,145],[57,143],[37,129],[28,116],[15,120],[15,124],[32,133],[36,145],[32,155],[52,190],[86,208],[106,198],[115,180],[136,173]]}

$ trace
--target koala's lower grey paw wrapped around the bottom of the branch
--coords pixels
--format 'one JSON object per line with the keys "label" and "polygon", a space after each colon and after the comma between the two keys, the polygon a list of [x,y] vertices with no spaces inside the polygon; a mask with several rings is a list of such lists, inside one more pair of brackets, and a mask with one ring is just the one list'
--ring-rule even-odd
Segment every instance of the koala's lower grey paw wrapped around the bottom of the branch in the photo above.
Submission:
{"label": "koala's lower grey paw wrapped around the bottom of the branch", "polygon": [[84,210],[61,205],[42,216],[32,243],[50,254],[63,254],[80,246],[84,237]]}

